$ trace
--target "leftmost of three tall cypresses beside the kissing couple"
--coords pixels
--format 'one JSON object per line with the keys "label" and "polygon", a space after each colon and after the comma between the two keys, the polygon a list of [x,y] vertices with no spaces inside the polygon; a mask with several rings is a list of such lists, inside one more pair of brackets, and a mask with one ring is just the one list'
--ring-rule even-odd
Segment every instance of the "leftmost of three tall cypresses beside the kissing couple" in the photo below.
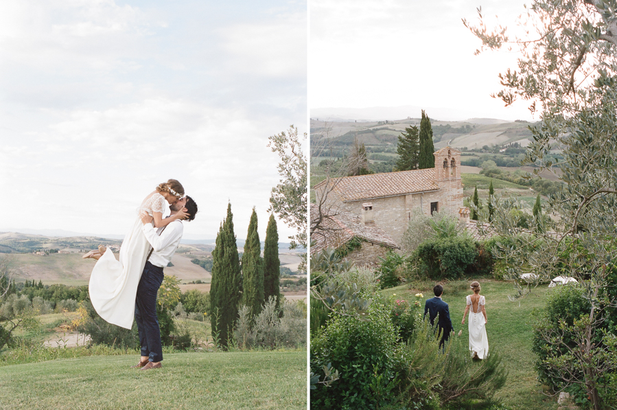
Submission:
{"label": "leftmost of three tall cypresses beside the kissing couple", "polygon": [[233,233],[231,203],[227,205],[227,217],[216,236],[212,251],[212,279],[210,282],[210,323],[212,334],[218,333],[223,348],[232,337],[233,326],[238,317],[238,305],[242,297],[240,258]]}

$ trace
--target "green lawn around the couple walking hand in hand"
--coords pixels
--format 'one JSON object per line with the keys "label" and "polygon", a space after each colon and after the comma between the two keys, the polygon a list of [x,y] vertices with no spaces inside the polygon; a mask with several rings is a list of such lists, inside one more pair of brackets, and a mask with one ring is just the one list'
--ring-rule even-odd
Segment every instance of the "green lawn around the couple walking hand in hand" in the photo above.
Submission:
{"label": "green lawn around the couple walking hand in hand", "polygon": [[[461,338],[467,340],[469,332],[467,321],[461,325],[465,311],[465,296],[470,294],[470,282],[451,282],[444,285],[443,300],[450,305],[450,318],[456,334],[463,329]],[[509,301],[513,286],[509,282],[480,280],[482,295],[487,299],[487,336],[489,351],[498,353],[509,372],[506,385],[498,391],[497,399],[510,409],[544,410],[557,409],[557,398],[542,393],[533,369],[535,354],[531,352],[533,310],[543,308],[548,285],[538,286],[534,293],[520,301]],[[397,297],[415,300],[415,293],[421,291],[424,298],[432,297],[432,289],[408,289],[398,286],[384,290],[387,296],[395,293]]]}

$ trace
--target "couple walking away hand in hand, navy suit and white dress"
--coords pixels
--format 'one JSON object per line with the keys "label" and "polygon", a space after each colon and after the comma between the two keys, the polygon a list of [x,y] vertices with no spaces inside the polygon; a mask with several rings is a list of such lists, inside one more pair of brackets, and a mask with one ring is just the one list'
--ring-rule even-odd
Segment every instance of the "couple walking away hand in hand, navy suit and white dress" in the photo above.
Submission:
{"label": "couple walking away hand in hand, navy suit and white dress", "polygon": [[[465,313],[463,313],[463,321],[461,324],[465,324],[465,317],[469,312],[469,351],[472,352],[472,358],[483,359],[489,354],[489,340],[487,339],[486,324],[488,323],[487,311],[485,308],[486,299],[484,296],[480,296],[480,283],[472,282],[471,286],[473,295],[467,295],[465,298]],[[433,288],[435,297],[426,299],[424,304],[424,316],[428,313],[430,324],[433,325],[435,318],[437,318],[437,328],[441,332],[440,346],[450,338],[450,334],[454,334],[454,327],[450,320],[450,311],[448,310],[447,303],[441,299],[443,295],[443,286],[436,285]],[[462,330],[461,330],[462,332]],[[459,336],[461,333],[458,333]]]}

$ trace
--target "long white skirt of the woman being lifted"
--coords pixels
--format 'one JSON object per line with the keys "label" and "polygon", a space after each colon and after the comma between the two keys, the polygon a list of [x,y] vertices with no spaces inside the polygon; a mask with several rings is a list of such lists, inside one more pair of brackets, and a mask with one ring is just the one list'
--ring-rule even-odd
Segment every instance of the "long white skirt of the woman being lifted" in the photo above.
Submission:
{"label": "long white skirt of the woman being lifted", "polygon": [[90,300],[97,313],[114,325],[130,329],[135,316],[135,296],[150,243],[137,218],[120,248],[120,260],[110,249],[97,260],[90,275]]}

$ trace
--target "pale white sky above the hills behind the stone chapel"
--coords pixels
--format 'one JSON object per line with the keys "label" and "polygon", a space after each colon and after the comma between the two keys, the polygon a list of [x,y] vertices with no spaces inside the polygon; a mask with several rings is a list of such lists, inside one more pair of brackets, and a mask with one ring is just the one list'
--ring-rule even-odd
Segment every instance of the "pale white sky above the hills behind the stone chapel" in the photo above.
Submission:
{"label": "pale white sky above the hills behind the stone chapel", "polygon": [[[498,21],[516,29],[523,4],[311,0],[309,106],[417,106],[430,117],[431,112],[444,113],[439,119],[534,119],[526,102],[505,109],[501,100],[489,96],[502,88],[497,75],[515,67],[515,54],[474,56],[481,42],[461,21],[476,23],[481,6],[489,27]],[[420,117],[419,108],[409,115]]]}

